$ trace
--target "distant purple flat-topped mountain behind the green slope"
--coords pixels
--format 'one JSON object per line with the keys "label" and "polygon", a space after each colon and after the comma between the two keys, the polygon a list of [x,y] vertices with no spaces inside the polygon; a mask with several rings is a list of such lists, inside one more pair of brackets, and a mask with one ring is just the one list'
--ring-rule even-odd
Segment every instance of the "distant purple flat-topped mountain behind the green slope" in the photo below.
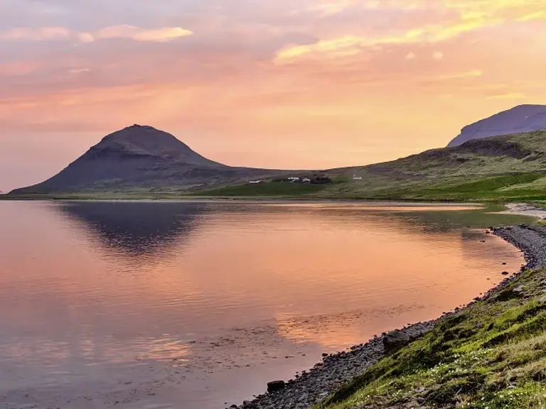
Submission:
{"label": "distant purple flat-topped mountain behind the green slope", "polygon": [[448,146],[459,146],[471,139],[510,135],[546,129],[546,105],[519,105],[461,129]]}

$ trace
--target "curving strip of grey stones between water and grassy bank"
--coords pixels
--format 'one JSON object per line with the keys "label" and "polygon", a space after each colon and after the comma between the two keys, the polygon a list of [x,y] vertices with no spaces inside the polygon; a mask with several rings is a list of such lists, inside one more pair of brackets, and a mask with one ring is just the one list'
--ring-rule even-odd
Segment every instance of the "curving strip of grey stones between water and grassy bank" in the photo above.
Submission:
{"label": "curving strip of grey stones between water and grassy bank", "polygon": [[[526,265],[520,270],[538,268],[546,265],[546,227],[535,225],[520,225],[488,229],[489,232],[500,236],[523,251]],[[469,305],[481,299],[491,298],[499,290],[508,285],[520,273],[505,278],[496,288],[488,291],[483,297],[475,298]],[[316,403],[326,399],[341,385],[348,383],[355,376],[362,373],[379,361],[382,356],[389,354],[425,332],[446,316],[459,312],[447,312],[437,320],[418,322],[417,324],[396,329],[388,334],[382,334],[370,339],[365,344],[351,347],[349,351],[338,352],[323,357],[323,361],[316,364],[311,370],[301,373],[287,383],[274,381],[268,385],[269,392],[257,396],[252,401],[245,401],[240,406],[232,405],[232,409],[308,409]]]}

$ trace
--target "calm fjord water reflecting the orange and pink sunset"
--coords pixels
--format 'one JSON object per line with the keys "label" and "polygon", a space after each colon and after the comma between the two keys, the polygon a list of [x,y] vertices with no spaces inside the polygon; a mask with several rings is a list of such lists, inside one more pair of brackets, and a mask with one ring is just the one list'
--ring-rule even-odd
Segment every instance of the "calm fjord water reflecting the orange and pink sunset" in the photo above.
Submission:
{"label": "calm fjord water reflecting the orange and pink sunset", "polygon": [[0,407],[240,403],[322,352],[437,317],[517,271],[516,249],[466,227],[500,218],[400,205],[0,202]]}

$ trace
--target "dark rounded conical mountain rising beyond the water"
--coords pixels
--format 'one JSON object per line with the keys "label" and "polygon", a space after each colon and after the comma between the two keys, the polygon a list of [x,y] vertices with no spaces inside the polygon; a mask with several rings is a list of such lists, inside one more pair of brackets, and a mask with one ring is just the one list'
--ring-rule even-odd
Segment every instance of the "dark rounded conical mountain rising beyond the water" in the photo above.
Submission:
{"label": "dark rounded conical mountain rising beyond the water", "polygon": [[53,178],[11,193],[188,190],[275,172],[223,165],[200,156],[171,133],[133,125],[105,136]]}

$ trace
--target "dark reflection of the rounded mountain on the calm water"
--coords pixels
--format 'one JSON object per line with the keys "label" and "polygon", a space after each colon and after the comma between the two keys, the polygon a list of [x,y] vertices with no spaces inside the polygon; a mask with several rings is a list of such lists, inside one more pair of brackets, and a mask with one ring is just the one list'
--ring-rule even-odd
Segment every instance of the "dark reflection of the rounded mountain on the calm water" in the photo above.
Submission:
{"label": "dark reflection of the rounded mountain on the calm water", "polygon": [[70,202],[58,209],[82,222],[107,249],[155,253],[187,239],[205,207],[186,202]]}

